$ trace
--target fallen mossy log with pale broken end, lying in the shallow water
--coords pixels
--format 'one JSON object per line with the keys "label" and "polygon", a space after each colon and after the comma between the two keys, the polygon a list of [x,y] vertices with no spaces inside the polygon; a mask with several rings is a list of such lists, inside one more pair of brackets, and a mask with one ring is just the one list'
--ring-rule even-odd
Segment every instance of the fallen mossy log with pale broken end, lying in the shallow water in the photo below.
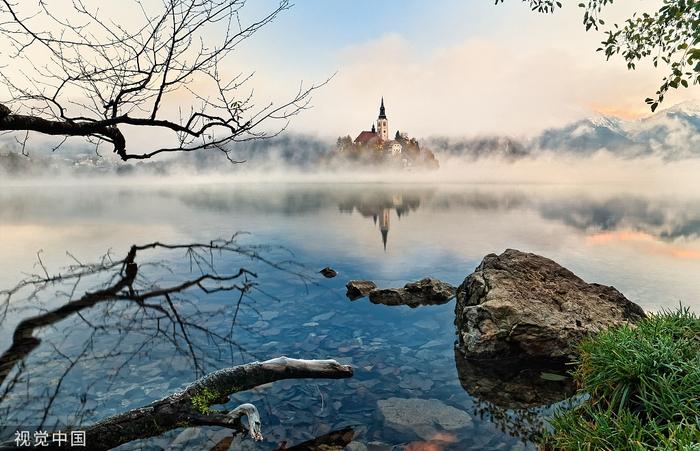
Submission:
{"label": "fallen mossy log with pale broken end, lying in the shallow water", "polygon": [[[84,428],[85,442],[91,450],[108,450],[133,440],[194,426],[222,426],[262,440],[260,414],[254,405],[242,404],[228,412],[213,410],[211,406],[228,402],[233,393],[282,379],[342,379],[352,375],[351,366],[335,360],[289,357],[221,369],[198,379],[181,392]],[[248,419],[247,427],[241,421],[244,416]],[[2,445],[0,449],[4,449]]]}

